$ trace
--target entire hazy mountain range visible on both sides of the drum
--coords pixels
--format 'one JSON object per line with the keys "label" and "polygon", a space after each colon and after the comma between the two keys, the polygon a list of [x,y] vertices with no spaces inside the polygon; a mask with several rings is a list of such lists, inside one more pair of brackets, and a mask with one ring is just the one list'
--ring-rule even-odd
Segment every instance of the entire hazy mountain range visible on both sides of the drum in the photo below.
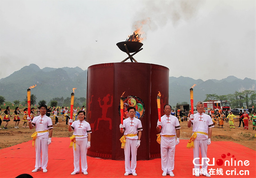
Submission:
{"label": "entire hazy mountain range visible on both sides of the drum", "polygon": [[[210,79],[203,81],[190,77],[169,77],[169,103],[173,106],[176,103],[190,103],[189,89],[194,87],[194,103],[205,100],[206,94],[227,95],[235,91],[245,89],[255,90],[256,80],[235,76],[228,76],[221,80]],[[0,80],[0,95],[5,101],[23,101],[27,96],[27,89],[32,85],[31,94],[36,95],[38,103],[45,100],[47,103],[54,97],[70,97],[73,88],[75,97],[86,97],[87,70],[76,68],[43,68],[36,64],[30,64]]]}

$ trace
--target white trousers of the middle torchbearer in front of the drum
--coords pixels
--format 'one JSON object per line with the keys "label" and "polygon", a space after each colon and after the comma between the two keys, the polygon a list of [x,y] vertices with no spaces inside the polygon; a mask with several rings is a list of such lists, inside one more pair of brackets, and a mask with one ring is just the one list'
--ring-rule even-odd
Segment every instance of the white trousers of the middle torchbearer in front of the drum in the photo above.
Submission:
{"label": "white trousers of the middle torchbearer in front of the drum", "polygon": [[[125,159],[125,172],[132,174],[135,172],[137,166],[137,142],[138,140],[125,139],[124,144],[124,159]],[[130,152],[132,154],[131,166],[130,166]]]}

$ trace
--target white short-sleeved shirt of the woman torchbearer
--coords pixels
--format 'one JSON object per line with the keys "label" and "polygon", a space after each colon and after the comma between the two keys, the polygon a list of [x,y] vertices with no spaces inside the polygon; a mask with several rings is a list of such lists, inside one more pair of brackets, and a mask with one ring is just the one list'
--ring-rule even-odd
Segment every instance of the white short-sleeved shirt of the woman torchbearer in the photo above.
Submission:
{"label": "white short-sleeved shirt of the woman torchbearer", "polygon": [[74,135],[82,136],[82,137],[76,137],[76,139],[83,139],[85,137],[88,137],[88,133],[92,133],[91,126],[88,122],[85,120],[80,121],[76,120],[71,125],[72,130],[74,130]]}

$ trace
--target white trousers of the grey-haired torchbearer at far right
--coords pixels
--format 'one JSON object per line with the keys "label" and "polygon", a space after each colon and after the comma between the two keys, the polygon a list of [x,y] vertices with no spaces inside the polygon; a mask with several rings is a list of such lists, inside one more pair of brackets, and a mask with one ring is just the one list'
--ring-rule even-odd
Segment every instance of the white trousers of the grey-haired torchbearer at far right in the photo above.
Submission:
{"label": "white trousers of the grey-haired torchbearer at far right", "polygon": [[[200,148],[201,148],[201,155],[202,155],[202,158],[207,158],[207,147],[208,147],[208,145],[207,145],[207,139],[205,139],[205,140],[195,140],[194,141],[194,148],[193,148],[193,153],[194,153],[194,159],[195,158],[199,158],[199,150],[200,150]],[[206,159],[204,159],[204,164],[203,164],[203,166],[202,166],[202,169],[203,170],[207,170],[207,167],[208,167],[208,165],[206,164]],[[195,160],[195,163],[197,164],[197,165],[199,165],[199,159],[196,159]],[[202,163],[201,163],[202,164]],[[200,169],[200,167],[199,166],[196,166],[196,165],[194,165],[194,168],[195,169]]]}

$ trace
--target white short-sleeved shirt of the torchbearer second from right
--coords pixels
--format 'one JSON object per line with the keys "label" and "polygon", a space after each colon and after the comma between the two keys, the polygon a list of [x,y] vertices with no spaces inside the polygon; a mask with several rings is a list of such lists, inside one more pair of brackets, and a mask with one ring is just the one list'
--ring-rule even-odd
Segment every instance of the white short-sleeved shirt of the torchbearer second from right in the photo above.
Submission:
{"label": "white short-sleeved shirt of the torchbearer second from right", "polygon": [[162,129],[160,135],[176,135],[176,129],[180,129],[180,123],[175,116],[162,116]]}

